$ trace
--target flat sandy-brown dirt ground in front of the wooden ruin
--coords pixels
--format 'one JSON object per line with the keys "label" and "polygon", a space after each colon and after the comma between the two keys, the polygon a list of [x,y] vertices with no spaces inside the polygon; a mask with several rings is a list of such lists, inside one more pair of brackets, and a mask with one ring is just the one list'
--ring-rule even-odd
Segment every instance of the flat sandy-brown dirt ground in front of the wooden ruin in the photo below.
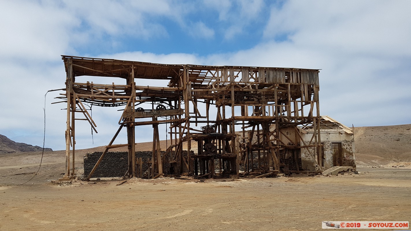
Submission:
{"label": "flat sandy-brown dirt ground in front of the wooden ruin", "polygon": [[328,220],[410,220],[410,168],[358,171],[240,181],[131,179],[122,185],[120,179],[103,179],[66,186],[44,174],[16,186],[32,174],[10,175],[0,178],[0,229],[321,230],[321,221]]}

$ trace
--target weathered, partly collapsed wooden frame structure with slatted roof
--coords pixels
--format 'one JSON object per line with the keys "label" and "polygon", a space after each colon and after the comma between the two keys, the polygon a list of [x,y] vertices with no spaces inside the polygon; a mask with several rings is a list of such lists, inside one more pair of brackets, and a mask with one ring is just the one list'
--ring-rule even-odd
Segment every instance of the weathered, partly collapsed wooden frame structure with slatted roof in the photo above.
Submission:
{"label": "weathered, partly collapsed wooden frame structure with slatted roof", "polygon": [[[83,103],[124,108],[117,132],[87,179],[105,153],[120,146],[128,147],[129,177],[213,177],[222,173],[238,177],[240,168],[246,174],[274,174],[282,167],[281,150],[314,146],[321,156],[316,126],[318,69],[155,64],[65,55],[62,59],[67,73],[66,93],[58,98],[67,102],[65,177],[76,174],[75,121],[87,120],[94,130],[96,126]],[[111,77],[113,84],[76,82],[78,76]],[[126,84],[114,84],[119,78]],[[139,79],[169,80],[169,84],[140,86]],[[142,121],[144,118],[151,120]],[[159,124],[169,129],[169,146],[164,154],[160,152]],[[297,129],[307,124],[316,131],[313,142],[285,143],[279,139],[282,128]],[[141,125],[153,127],[152,160],[147,170],[152,174],[136,171],[135,126]],[[127,144],[114,145],[124,127]],[[193,142],[197,143],[196,153],[192,152]]]}

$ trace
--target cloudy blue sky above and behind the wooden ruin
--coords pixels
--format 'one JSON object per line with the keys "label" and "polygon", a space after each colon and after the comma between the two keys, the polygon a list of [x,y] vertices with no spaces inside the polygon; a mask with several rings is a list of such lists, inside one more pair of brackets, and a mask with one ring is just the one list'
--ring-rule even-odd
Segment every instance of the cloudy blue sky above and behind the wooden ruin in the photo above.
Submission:
{"label": "cloudy blue sky above and behind the wooden ruin", "polygon": [[[347,126],[410,124],[409,9],[408,0],[0,1],[0,134],[42,146],[43,96],[65,87],[60,55],[322,69],[321,114]],[[46,146],[56,150],[65,148],[64,105],[50,104],[58,94],[46,103]],[[79,123],[77,147],[106,145],[118,117],[93,107],[99,133],[93,144]]]}

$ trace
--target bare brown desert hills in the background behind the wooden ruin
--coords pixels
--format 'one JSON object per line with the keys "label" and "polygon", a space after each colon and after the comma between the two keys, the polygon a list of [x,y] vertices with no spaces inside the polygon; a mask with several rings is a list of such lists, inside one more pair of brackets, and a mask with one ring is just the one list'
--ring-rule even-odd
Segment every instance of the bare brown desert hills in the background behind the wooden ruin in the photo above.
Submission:
{"label": "bare brown desert hills in the background behind the wooden ruin", "polygon": [[[411,124],[395,126],[375,126],[355,128],[355,146],[357,166],[370,165],[406,165],[411,162]],[[20,182],[31,178],[36,172],[42,158],[40,147],[33,147],[28,144],[20,144],[10,141],[5,136],[0,136],[1,150],[10,152],[0,153],[0,181],[4,183]],[[169,144],[169,143],[168,143]],[[193,142],[192,144],[195,144]],[[18,149],[17,146],[25,147]],[[166,149],[166,141],[160,142],[162,150]],[[83,156],[92,151],[104,151],[104,146],[93,147],[90,149],[76,150],[76,172],[83,172]],[[192,150],[196,150],[192,145]],[[32,150],[39,151],[17,151]],[[151,142],[136,144],[136,151],[150,151]],[[186,147],[183,147],[186,149]],[[110,151],[127,151],[127,147],[111,149]],[[401,163],[399,163],[401,162]],[[408,162],[408,163],[407,163]],[[398,164],[395,164],[398,163]],[[51,151],[47,149],[44,153],[42,167],[37,177],[32,183],[41,183],[44,180],[51,181],[60,178],[64,174],[65,151]],[[384,167],[384,166],[381,166]]]}

